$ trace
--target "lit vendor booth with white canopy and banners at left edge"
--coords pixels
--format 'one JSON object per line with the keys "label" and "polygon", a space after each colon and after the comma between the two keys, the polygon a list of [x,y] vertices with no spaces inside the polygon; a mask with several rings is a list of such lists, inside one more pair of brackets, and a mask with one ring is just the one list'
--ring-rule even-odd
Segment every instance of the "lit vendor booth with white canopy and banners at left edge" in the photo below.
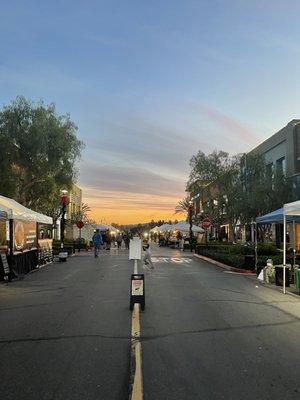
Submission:
{"label": "lit vendor booth with white canopy and banners at left edge", "polygon": [[52,218],[0,195],[0,250],[10,269],[23,274],[52,258]]}

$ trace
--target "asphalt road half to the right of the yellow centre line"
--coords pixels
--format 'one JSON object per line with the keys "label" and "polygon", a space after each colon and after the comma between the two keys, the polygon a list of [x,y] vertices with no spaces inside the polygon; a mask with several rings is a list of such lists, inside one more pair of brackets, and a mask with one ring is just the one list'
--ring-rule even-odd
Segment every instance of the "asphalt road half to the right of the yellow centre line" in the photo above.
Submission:
{"label": "asphalt road half to the right of the yellow centre line", "polygon": [[141,316],[145,400],[299,399],[298,299],[206,262],[156,261]]}

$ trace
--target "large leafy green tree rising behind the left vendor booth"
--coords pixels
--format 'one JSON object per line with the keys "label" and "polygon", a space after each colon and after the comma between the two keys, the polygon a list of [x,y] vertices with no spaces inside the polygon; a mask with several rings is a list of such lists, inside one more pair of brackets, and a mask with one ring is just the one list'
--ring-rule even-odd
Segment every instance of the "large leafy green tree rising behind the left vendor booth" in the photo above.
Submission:
{"label": "large leafy green tree rising behind the left vendor booth", "polygon": [[59,193],[76,179],[83,143],[69,115],[54,104],[17,97],[0,110],[0,192],[24,206],[55,215]]}

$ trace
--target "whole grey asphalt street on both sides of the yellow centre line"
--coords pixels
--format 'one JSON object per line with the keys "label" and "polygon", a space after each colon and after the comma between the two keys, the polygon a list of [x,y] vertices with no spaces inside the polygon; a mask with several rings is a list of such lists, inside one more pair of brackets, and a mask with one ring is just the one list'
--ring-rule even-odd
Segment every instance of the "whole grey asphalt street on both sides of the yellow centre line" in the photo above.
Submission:
{"label": "whole grey asphalt street on both sides of the yellow centre line", "polygon": [[[144,399],[298,399],[299,300],[155,248]],[[128,399],[128,254],[81,253],[0,286],[1,399]]]}

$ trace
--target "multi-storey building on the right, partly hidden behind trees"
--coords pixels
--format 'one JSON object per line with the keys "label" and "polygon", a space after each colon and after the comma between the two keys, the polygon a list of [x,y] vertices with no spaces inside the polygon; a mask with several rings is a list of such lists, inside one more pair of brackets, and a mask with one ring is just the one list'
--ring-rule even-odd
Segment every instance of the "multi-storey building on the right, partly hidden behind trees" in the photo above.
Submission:
{"label": "multi-storey building on the right, partly hidden behind trees", "polygon": [[[243,179],[243,169],[247,168],[248,155],[262,155],[266,164],[266,174],[270,180],[275,176],[275,173],[280,171],[286,177],[293,181],[296,198],[300,199],[300,120],[294,119],[285,127],[280,129],[274,135],[259,144],[249,153],[242,157],[243,164],[241,165],[241,179]],[[211,209],[211,215],[218,218],[216,213],[219,213],[219,222],[221,231],[216,232],[211,229],[211,236],[220,235],[220,239],[227,239],[230,236],[229,225],[226,218],[226,199],[220,199],[218,196],[218,182],[212,182],[208,186],[200,189],[197,196],[194,197],[194,212],[195,219],[201,220],[204,209],[208,206]],[[272,224],[270,229],[271,241],[278,246],[282,242],[282,224]],[[235,239],[240,241],[248,241],[254,239],[253,226],[248,229],[244,226],[237,225],[235,230]],[[290,239],[293,240],[293,232],[290,232]],[[298,240],[299,239],[299,240]],[[296,242],[300,249],[300,225],[296,226]]]}

